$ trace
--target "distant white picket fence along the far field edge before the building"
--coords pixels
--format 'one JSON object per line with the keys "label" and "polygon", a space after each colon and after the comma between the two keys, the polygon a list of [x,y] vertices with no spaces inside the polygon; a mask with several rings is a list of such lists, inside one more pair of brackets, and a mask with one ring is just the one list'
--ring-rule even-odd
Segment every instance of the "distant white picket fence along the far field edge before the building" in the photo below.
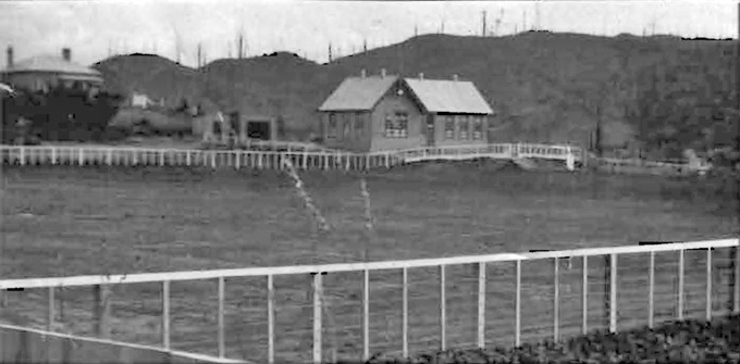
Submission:
{"label": "distant white picket fence along the far field edge before the building", "polygon": [[[264,145],[270,148],[276,145]],[[369,170],[429,160],[535,158],[582,160],[582,150],[569,146],[501,143],[416,148],[371,153],[311,150],[185,150],[134,147],[0,146],[3,164],[17,165],[147,165],[230,168],[283,168],[287,158],[299,168]]]}

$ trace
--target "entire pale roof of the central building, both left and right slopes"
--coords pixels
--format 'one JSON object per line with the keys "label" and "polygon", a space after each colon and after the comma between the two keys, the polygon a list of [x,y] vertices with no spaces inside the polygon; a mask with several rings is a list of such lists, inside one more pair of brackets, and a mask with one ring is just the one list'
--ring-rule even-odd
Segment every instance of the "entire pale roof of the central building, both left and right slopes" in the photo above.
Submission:
{"label": "entire pale roof of the central building, both left and right slopes", "polygon": [[[366,111],[387,92],[397,76],[346,78],[319,111]],[[416,99],[430,113],[493,114],[471,81],[403,78]]]}

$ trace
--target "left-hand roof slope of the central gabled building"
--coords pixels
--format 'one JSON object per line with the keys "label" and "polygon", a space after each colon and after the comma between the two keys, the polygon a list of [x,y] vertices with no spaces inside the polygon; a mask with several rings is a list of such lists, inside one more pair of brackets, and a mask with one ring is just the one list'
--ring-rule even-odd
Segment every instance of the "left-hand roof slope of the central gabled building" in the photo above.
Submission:
{"label": "left-hand roof slope of the central gabled building", "polygon": [[371,110],[397,79],[397,76],[345,78],[319,111]]}

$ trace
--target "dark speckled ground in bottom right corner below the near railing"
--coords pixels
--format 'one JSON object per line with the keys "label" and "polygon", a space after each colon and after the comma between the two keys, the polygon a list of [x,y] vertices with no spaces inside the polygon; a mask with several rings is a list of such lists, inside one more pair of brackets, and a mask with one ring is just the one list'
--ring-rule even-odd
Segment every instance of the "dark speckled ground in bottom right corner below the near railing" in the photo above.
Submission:
{"label": "dark speckled ground in bottom right corner below the near railing", "polygon": [[367,363],[740,363],[740,315],[669,322],[619,334],[595,331],[519,348],[451,349],[411,359],[377,355]]}

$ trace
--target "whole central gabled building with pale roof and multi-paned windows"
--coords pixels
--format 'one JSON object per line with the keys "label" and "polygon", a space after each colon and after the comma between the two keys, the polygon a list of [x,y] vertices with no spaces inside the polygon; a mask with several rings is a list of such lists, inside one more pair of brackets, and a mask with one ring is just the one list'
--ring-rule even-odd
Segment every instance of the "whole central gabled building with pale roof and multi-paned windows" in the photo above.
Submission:
{"label": "whole central gabled building with pale roof and multi-paned windows", "polygon": [[319,108],[329,148],[372,152],[488,143],[493,110],[473,83],[386,75],[346,78]]}

